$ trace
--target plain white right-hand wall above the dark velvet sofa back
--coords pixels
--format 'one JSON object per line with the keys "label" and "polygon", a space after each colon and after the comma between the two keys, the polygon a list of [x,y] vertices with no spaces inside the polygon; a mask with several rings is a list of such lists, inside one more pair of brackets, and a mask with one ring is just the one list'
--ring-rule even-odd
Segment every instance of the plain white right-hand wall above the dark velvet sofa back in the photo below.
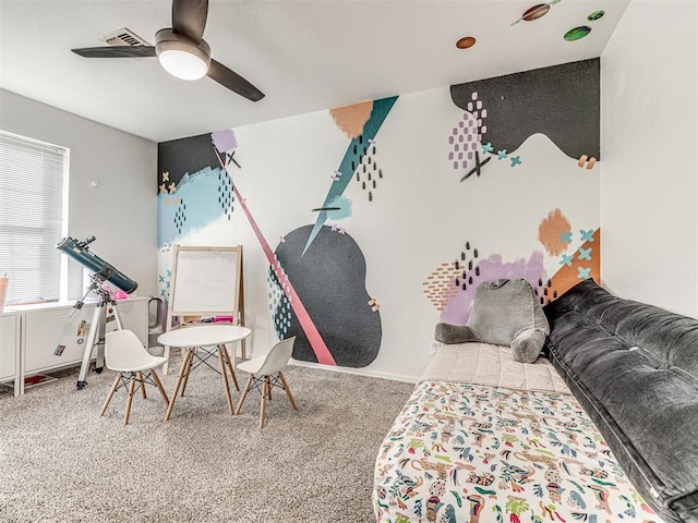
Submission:
{"label": "plain white right-hand wall above the dark velvet sofa back", "polygon": [[601,56],[603,283],[698,317],[698,3],[633,0]]}

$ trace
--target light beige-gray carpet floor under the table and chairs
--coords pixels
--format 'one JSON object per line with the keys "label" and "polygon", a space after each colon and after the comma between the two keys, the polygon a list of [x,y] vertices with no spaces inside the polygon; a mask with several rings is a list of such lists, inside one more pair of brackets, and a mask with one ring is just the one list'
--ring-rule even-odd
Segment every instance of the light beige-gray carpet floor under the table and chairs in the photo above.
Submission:
{"label": "light beige-gray carpet floor under the table and chairs", "polygon": [[[168,396],[178,361],[172,368],[161,376]],[[0,521],[374,521],[375,457],[413,384],[302,366],[285,375],[299,411],[274,389],[262,431],[260,394],[231,416],[206,367],[169,422],[155,388],[135,396],[128,426],[123,389],[98,417],[109,370],[91,373],[83,390],[75,368],[25,396],[0,393]]]}

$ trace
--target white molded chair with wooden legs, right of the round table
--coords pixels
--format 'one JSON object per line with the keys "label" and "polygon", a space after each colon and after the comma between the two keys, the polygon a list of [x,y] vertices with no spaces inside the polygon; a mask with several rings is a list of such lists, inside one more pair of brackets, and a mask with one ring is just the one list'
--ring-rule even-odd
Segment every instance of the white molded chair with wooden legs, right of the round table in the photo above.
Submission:
{"label": "white molded chair with wooden legs, right of the round table", "polygon": [[281,373],[281,369],[288,365],[288,361],[293,352],[294,342],[296,337],[279,341],[272,348],[266,356],[254,357],[237,365],[237,368],[244,370],[245,373],[250,373],[250,378],[248,379],[244,389],[242,389],[242,396],[240,396],[236,414],[240,414],[244,399],[248,396],[248,391],[251,386],[254,386],[262,394],[262,404],[260,406],[260,430],[264,428],[264,412],[266,409],[266,401],[272,400],[272,387],[284,389],[286,391],[286,396],[288,396],[288,401],[291,403],[291,406],[298,411],[296,401],[293,401],[293,397],[291,396],[291,390],[288,388],[286,378]]}

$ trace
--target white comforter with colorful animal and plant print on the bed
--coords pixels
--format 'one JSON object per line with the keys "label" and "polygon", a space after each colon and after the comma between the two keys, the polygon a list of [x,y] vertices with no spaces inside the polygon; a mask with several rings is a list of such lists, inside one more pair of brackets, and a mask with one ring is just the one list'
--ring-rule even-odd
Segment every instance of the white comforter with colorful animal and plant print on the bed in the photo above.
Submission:
{"label": "white comforter with colorful animal and plant print on the bed", "polygon": [[422,381],[378,452],[382,523],[660,523],[570,394]]}

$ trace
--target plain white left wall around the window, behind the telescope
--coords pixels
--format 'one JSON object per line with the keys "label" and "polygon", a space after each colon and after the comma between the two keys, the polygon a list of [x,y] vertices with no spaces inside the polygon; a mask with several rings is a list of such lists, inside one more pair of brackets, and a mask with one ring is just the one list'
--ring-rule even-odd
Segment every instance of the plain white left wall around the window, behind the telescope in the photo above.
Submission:
{"label": "plain white left wall around the window, behind the telescope", "polygon": [[[95,254],[155,294],[157,144],[3,89],[0,129],[70,148],[68,234],[96,236]],[[65,297],[81,297],[82,266],[70,260],[68,278]]]}

